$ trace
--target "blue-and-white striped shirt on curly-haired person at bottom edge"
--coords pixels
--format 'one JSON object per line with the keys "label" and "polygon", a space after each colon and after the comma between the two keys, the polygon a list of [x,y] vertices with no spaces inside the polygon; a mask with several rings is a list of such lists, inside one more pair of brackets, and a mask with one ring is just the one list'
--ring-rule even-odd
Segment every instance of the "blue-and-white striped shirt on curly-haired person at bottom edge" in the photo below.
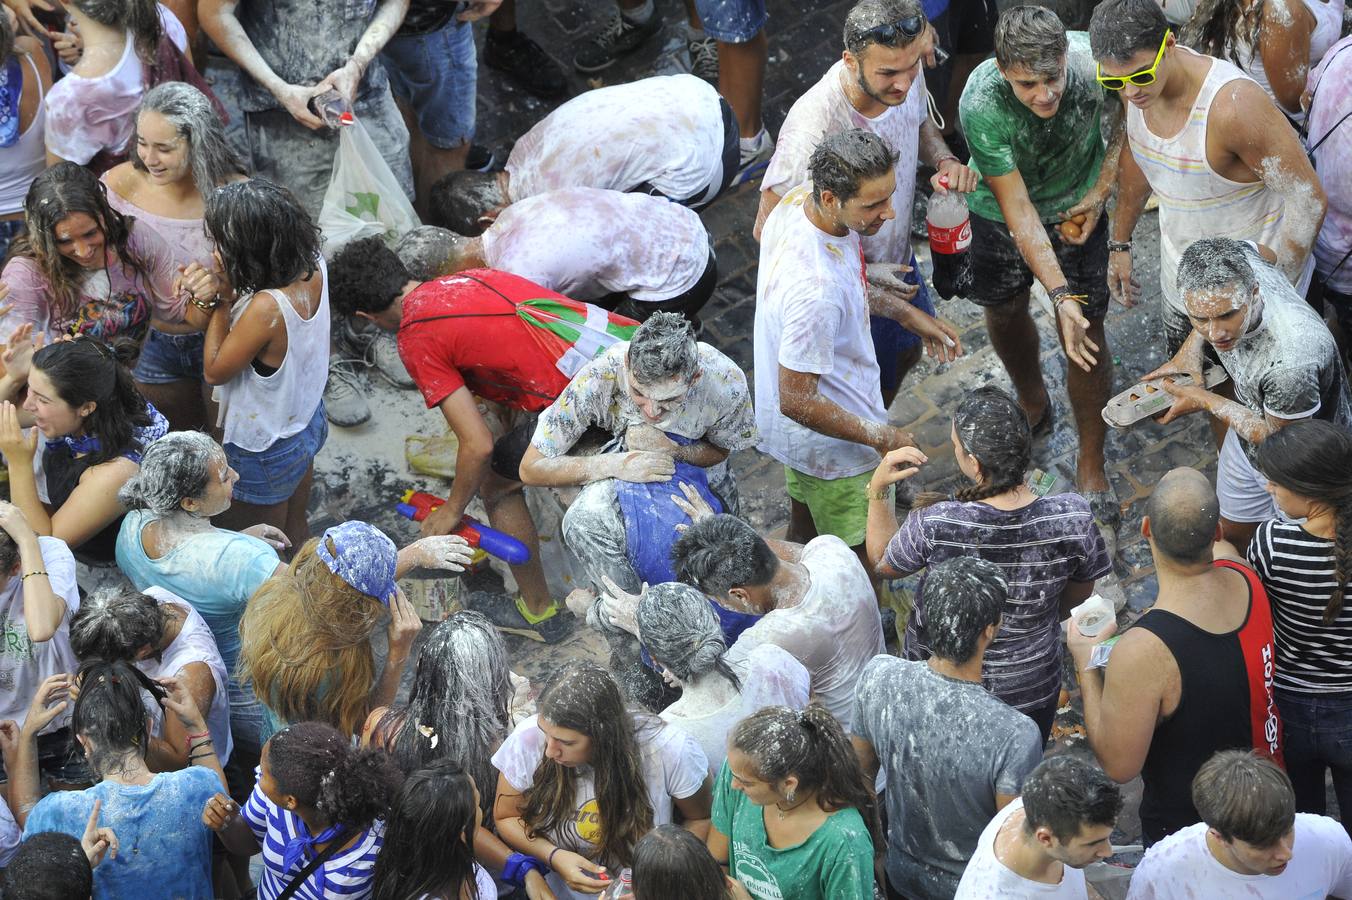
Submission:
{"label": "blue-and-white striped shirt on curly-haired person at bottom edge", "polygon": [[[254,786],[249,803],[241,811],[249,828],[262,847],[262,878],[258,881],[258,900],[274,900],[314,857],[301,859],[289,872],[281,868],[281,854],[287,842],[296,835],[310,835],[310,828],[295,812],[281,809]],[[370,896],[376,855],[385,835],[383,822],[376,822],[362,832],[357,843],[339,850],[324,865],[306,878],[296,891],[295,900],[364,900]]]}

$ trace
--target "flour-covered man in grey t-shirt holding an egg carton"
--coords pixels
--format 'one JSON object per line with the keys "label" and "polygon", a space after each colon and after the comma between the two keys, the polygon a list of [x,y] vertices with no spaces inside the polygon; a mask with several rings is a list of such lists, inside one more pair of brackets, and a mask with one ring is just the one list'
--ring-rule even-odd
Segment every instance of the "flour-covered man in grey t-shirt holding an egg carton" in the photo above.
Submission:
{"label": "flour-covered man in grey t-shirt holding an egg carton", "polygon": [[[1192,332],[1146,378],[1169,373],[1195,378],[1191,386],[1164,385],[1174,405],[1161,423],[1209,412],[1226,426],[1215,491],[1225,538],[1244,553],[1259,523],[1278,516],[1267,478],[1256,468],[1257,445],[1301,419],[1352,430],[1352,395],[1324,320],[1252,245],[1198,241],[1179,261],[1178,284]],[[1234,400],[1198,386],[1209,350],[1230,376]]]}

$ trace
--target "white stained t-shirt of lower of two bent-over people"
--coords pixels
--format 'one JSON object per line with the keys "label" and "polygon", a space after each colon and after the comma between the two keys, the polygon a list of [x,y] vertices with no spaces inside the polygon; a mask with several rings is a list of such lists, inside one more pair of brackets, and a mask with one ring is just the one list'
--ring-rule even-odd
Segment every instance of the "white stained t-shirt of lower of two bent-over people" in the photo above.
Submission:
{"label": "white stained t-shirt of lower of two bent-over people", "polygon": [[484,232],[484,261],[573,300],[677,297],[708,265],[699,214],[646,193],[562,188],[518,200]]}

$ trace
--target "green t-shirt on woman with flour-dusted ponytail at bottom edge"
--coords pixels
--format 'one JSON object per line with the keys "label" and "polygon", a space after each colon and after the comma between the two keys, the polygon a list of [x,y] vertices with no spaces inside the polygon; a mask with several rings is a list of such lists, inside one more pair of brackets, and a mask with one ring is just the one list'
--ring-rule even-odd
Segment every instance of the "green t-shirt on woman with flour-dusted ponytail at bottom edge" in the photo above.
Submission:
{"label": "green t-shirt on woman with flour-dusted ponytail at bottom edge", "polygon": [[733,788],[723,762],[714,827],[727,835],[729,872],[756,900],[872,900],[873,842],[859,809],[833,812],[803,843],[776,849],[764,809]]}

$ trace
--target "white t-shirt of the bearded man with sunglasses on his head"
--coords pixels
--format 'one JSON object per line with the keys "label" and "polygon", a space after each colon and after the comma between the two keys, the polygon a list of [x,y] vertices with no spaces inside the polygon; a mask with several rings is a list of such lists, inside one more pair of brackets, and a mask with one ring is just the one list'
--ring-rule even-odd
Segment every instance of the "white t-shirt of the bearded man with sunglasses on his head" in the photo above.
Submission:
{"label": "white t-shirt of the bearded man with sunglasses on his head", "polygon": [[888,107],[875,119],[849,101],[842,86],[849,77],[845,62],[837,61],[821,81],[794,101],[775,139],[775,155],[761,178],[761,191],[773,191],[783,197],[790,188],[807,181],[807,161],[829,134],[850,128],[876,134],[899,154],[896,191],[892,192],[892,207],[898,215],[886,222],[877,234],[861,236],[860,243],[869,262],[904,264],[911,258],[911,222],[904,212],[911,208],[911,195],[915,193],[915,162],[926,115],[925,76],[922,73],[915,78],[899,107]]}

